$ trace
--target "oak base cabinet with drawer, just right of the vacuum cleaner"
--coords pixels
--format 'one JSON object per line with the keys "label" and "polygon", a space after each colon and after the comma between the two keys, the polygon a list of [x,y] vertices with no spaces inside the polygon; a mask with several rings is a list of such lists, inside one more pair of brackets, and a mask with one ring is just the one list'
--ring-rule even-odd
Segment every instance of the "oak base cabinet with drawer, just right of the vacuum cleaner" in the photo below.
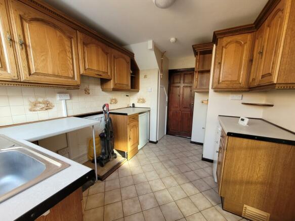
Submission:
{"label": "oak base cabinet with drawer, just right of the vacuum cleaner", "polygon": [[127,153],[131,159],[138,153],[139,145],[139,115],[111,114],[114,129],[114,149]]}

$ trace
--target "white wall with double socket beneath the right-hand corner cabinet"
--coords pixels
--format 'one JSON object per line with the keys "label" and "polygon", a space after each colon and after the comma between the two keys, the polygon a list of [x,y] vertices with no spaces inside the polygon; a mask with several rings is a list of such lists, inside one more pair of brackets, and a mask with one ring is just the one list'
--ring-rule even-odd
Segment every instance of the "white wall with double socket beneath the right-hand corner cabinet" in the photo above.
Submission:
{"label": "white wall with double socket beneath the right-hand corner cabinet", "polygon": [[[215,56],[215,47],[213,57]],[[210,74],[210,90],[209,102],[206,116],[205,138],[203,145],[203,157],[213,159],[214,156],[214,141],[215,131],[219,124],[218,115],[228,116],[245,116],[262,118],[263,108],[259,106],[242,105],[240,100],[230,100],[231,94],[242,94],[243,101],[264,102],[266,100],[265,92],[245,92],[245,93],[230,93],[230,92],[214,92],[212,88],[213,64]]]}

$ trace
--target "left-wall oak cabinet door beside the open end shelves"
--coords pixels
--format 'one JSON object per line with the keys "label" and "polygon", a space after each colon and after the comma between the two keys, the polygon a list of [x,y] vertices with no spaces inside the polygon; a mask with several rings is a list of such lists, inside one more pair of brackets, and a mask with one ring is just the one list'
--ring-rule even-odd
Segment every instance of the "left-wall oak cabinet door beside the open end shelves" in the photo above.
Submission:
{"label": "left-wall oak cabinet door beside the open end shelves", "polygon": [[112,53],[112,72],[114,89],[130,89],[130,57],[114,49]]}

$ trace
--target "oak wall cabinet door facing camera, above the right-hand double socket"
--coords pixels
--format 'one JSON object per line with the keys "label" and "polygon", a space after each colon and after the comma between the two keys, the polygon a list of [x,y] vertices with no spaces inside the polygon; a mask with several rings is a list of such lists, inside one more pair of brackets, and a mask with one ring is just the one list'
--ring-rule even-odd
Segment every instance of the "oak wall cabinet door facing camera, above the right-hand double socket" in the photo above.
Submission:
{"label": "oak wall cabinet door facing camera, above the right-hand double socket", "polygon": [[218,40],[214,88],[245,88],[252,33]]}

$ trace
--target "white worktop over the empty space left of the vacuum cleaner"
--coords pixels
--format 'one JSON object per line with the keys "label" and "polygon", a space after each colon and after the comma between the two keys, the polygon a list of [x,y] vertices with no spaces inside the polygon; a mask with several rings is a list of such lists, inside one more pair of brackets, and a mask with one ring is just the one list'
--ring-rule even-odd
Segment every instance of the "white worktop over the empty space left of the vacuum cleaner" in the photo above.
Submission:
{"label": "white worktop over the empty space left of the vacuum cleaner", "polygon": [[66,132],[92,126],[98,123],[99,121],[97,120],[79,117],[65,117],[55,120],[3,127],[0,128],[0,134],[4,134],[16,140],[21,139],[32,142],[65,134]]}

